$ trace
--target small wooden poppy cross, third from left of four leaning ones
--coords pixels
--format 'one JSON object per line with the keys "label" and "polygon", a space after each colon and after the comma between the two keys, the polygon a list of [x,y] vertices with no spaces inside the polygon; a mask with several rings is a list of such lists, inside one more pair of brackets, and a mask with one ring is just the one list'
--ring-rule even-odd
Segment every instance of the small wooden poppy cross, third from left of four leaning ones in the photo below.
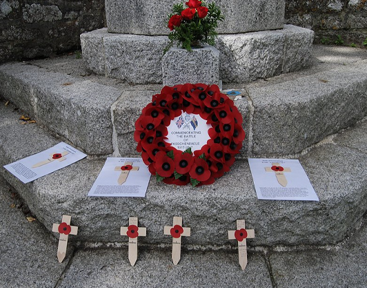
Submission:
{"label": "small wooden poppy cross, third from left of four leaning ones", "polygon": [[181,258],[181,236],[190,236],[191,229],[188,227],[182,227],[182,218],[173,218],[173,227],[165,226],[164,235],[172,236],[172,260],[173,264],[177,265]]}

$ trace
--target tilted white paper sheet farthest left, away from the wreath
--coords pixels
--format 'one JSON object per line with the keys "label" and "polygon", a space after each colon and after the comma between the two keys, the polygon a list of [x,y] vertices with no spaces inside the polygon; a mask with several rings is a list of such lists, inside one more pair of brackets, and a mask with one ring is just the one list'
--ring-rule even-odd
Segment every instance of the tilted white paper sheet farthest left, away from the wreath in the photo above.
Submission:
{"label": "tilted white paper sheet farthest left, away from the wreath", "polygon": [[[62,157],[55,154],[61,154]],[[4,168],[21,180],[21,182],[28,183],[75,163],[86,156],[86,154],[81,153],[81,151],[72,146],[60,142],[45,151],[7,164]]]}

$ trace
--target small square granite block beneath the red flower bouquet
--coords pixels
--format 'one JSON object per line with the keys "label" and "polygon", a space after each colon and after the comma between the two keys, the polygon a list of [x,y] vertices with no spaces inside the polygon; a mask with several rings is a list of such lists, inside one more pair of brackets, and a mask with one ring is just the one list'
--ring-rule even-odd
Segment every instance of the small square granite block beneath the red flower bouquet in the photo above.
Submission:
{"label": "small square granite block beneath the red flower bouquet", "polygon": [[219,51],[212,46],[191,52],[171,48],[162,59],[163,86],[186,83],[219,84]]}

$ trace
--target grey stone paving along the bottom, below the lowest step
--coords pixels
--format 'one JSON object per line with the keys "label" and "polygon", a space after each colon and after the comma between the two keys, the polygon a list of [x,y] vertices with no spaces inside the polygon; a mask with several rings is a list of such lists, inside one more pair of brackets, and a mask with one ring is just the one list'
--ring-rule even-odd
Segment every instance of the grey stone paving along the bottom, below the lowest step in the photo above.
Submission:
{"label": "grey stone paving along the bottom, below the lowest step", "polygon": [[235,248],[198,251],[184,246],[179,265],[174,266],[171,247],[148,249],[141,244],[135,267],[131,267],[126,244],[75,246],[76,242],[70,242],[60,264],[57,236],[51,236],[38,221],[28,222],[19,209],[21,205],[14,190],[0,177],[0,287],[366,286],[366,218],[361,229],[337,247],[248,247],[245,271],[238,265]]}

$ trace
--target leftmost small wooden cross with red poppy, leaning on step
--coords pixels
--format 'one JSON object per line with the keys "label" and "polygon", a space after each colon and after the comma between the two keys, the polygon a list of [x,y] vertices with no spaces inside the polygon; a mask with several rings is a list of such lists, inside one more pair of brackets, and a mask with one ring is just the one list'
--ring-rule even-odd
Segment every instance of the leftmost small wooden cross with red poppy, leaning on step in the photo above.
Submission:
{"label": "leftmost small wooden cross with red poppy, leaning on step", "polygon": [[71,216],[63,215],[61,224],[53,224],[52,232],[60,233],[59,247],[57,248],[57,259],[59,262],[63,262],[63,258],[66,256],[66,247],[68,246],[68,236],[77,235],[78,227],[70,226]]}

